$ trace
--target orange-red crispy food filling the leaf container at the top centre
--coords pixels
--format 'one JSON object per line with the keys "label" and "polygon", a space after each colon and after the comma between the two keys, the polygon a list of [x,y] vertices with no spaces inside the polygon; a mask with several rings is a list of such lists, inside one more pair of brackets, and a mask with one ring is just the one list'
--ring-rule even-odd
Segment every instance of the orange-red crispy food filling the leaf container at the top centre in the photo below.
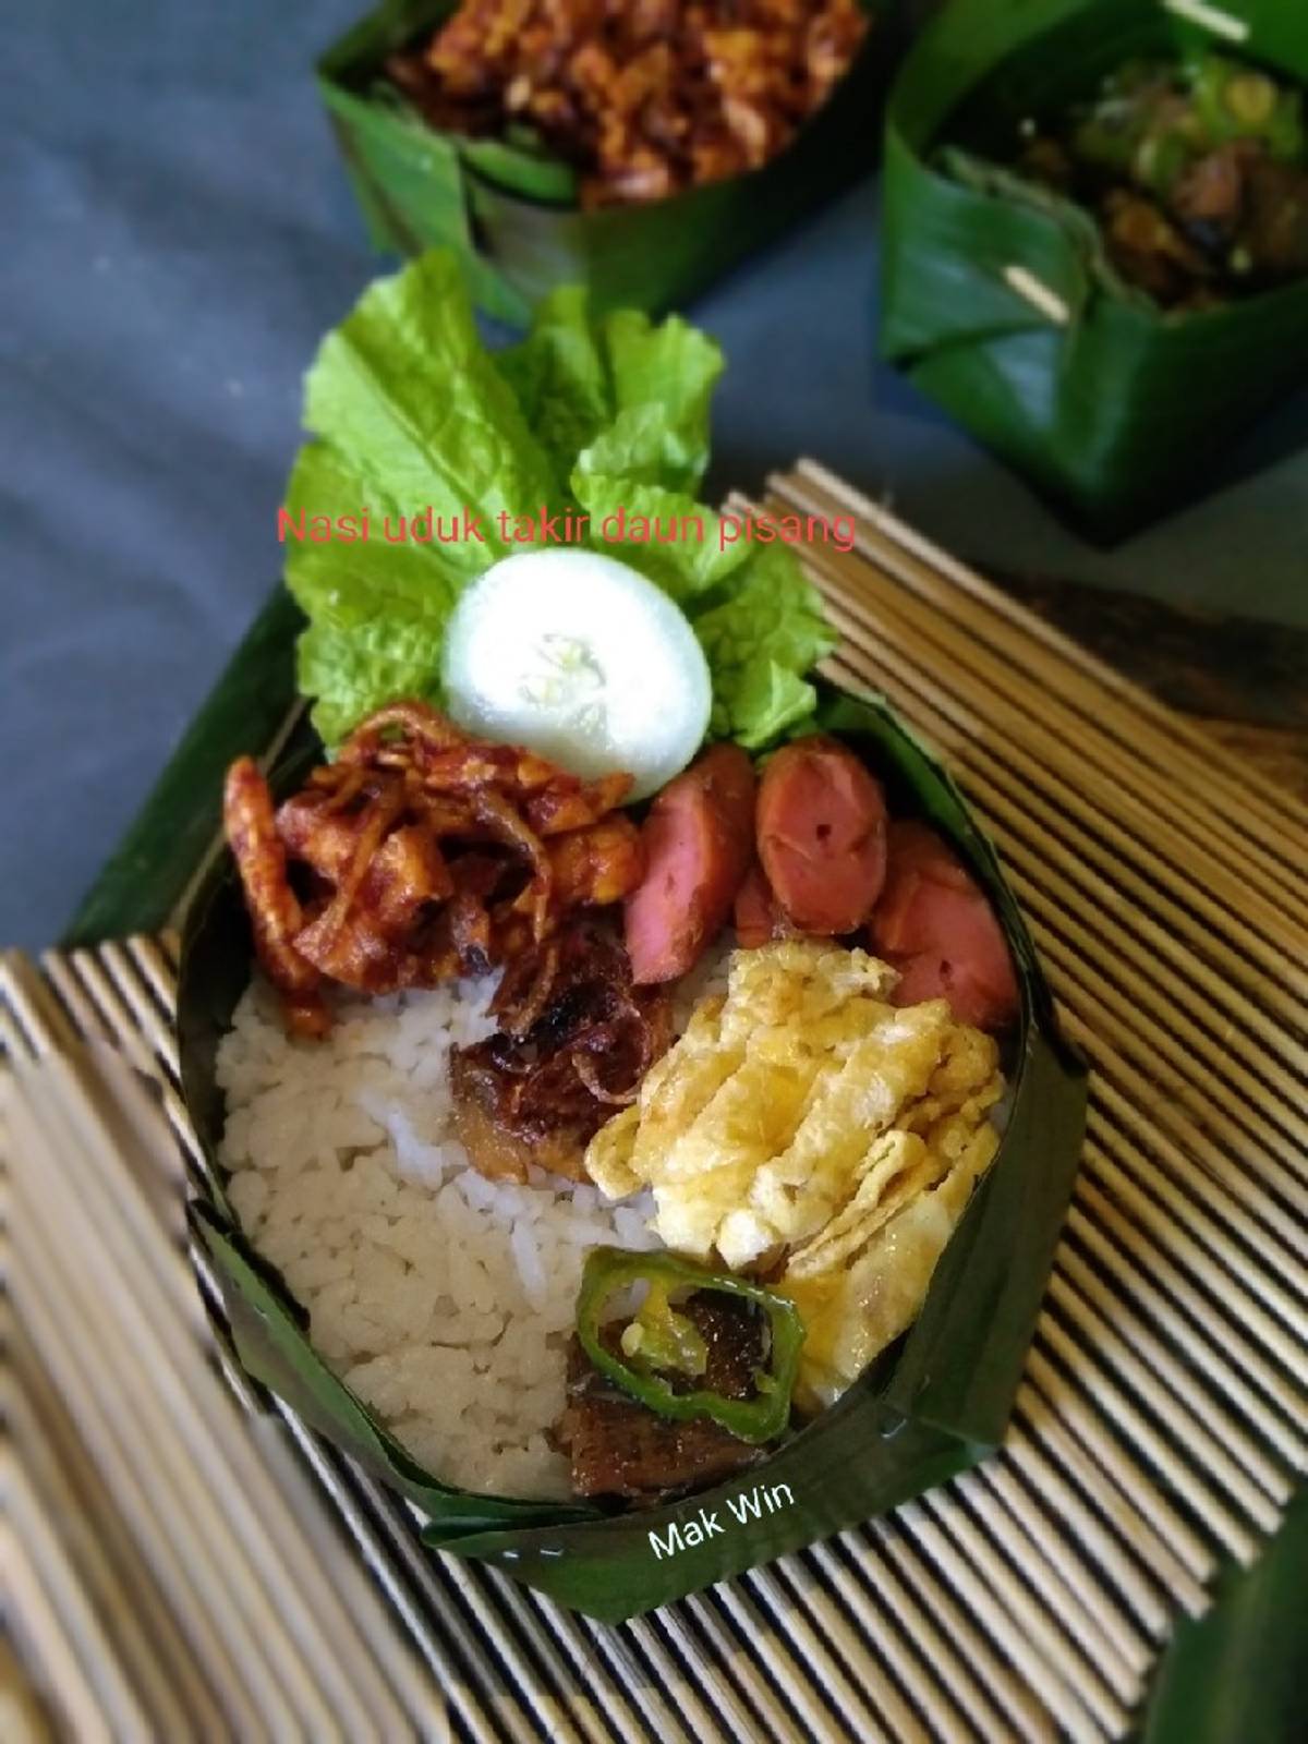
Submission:
{"label": "orange-red crispy food filling the leaf container at the top centre", "polygon": [[865,30],[860,0],[464,0],[387,72],[436,127],[534,127],[593,208],[766,164]]}

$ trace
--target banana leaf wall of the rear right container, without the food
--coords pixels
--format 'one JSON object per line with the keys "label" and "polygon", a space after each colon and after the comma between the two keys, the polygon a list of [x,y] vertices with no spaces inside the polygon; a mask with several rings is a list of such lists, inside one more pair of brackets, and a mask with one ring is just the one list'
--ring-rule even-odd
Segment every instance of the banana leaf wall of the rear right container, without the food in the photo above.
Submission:
{"label": "banana leaf wall of the rear right container, without the food", "polygon": [[954,0],[886,110],[881,352],[1100,541],[1200,495],[1240,429],[1308,380],[1308,281],[1165,316],[1104,288],[1088,215],[964,187],[935,152],[959,113],[1012,136],[1137,56],[1226,51],[1308,82],[1308,7],[1214,10],[1243,40],[1156,0]]}

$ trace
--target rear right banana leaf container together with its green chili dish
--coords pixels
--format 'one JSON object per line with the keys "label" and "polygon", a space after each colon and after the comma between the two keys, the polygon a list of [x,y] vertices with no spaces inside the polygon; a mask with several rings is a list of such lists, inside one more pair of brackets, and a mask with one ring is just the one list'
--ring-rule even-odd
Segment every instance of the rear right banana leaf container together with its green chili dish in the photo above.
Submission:
{"label": "rear right banana leaf container together with its green chili dish", "polygon": [[1308,10],[952,0],[886,117],[881,352],[1093,539],[1308,378]]}

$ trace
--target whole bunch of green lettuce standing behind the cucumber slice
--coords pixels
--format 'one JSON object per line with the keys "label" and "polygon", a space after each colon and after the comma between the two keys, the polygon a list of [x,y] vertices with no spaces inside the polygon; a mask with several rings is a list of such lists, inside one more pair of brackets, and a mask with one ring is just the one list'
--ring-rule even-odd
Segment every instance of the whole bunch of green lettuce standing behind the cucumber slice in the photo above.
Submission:
{"label": "whole bunch of green lettuce standing behind the cucumber slice", "polygon": [[[720,349],[689,323],[654,324],[637,310],[591,319],[576,286],[548,296],[527,337],[492,354],[459,265],[439,249],[371,284],[309,371],[314,439],[286,488],[290,525],[305,528],[286,534],[286,582],[309,617],[298,682],[323,739],[337,743],[399,694],[439,703],[459,593],[527,549],[511,523],[541,511],[588,514],[589,548],[678,602],[713,677],[715,738],[755,748],[800,720],[813,708],[804,675],[834,637],[794,553],[722,548],[719,516],[698,501],[720,373]],[[368,539],[307,537],[364,508]],[[663,523],[698,516],[705,537],[605,541],[619,508]],[[445,539],[394,537],[401,518],[424,511]],[[476,537],[448,537],[469,523]]]}

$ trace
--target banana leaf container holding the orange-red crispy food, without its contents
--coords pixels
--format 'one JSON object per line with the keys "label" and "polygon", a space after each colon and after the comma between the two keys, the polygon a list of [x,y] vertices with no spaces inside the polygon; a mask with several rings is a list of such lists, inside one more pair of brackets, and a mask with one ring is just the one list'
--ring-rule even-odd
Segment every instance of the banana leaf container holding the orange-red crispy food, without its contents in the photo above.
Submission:
{"label": "banana leaf container holding the orange-red crispy food, without its contents", "polygon": [[865,0],[867,40],[823,106],[762,169],[666,201],[584,213],[567,164],[530,146],[439,133],[378,82],[387,54],[433,30],[455,0],[389,0],[317,65],[317,84],[375,248],[443,244],[476,305],[523,326],[558,284],[591,309],[682,307],[856,181],[881,150],[879,110],[898,59],[898,0]]}

